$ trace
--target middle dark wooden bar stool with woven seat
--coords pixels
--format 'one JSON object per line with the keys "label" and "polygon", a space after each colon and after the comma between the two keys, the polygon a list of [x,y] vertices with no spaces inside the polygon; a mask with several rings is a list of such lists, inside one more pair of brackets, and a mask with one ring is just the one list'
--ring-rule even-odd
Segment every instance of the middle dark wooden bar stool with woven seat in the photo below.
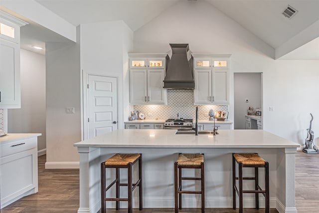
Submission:
{"label": "middle dark wooden bar stool with woven seat", "polygon": [[[181,169],[200,169],[200,178],[182,177]],[[182,180],[201,181],[201,191],[183,191]],[[178,209],[181,210],[181,194],[201,194],[201,212],[205,212],[204,154],[178,154],[174,163],[175,213],[178,213]]]}

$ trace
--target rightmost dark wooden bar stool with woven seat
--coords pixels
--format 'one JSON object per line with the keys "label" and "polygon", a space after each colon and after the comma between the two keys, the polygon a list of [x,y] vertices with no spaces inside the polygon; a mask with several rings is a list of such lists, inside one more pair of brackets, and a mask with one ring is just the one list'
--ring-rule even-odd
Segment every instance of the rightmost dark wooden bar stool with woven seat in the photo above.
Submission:
{"label": "rightmost dark wooden bar stool with woven seat", "polygon": [[[235,164],[238,164],[238,176],[236,177]],[[236,209],[236,193],[239,197],[239,213],[243,212],[243,193],[255,194],[256,209],[259,209],[259,194],[265,196],[265,212],[269,213],[269,163],[262,159],[257,153],[233,153],[233,209]],[[255,168],[255,177],[243,177],[243,168]],[[265,190],[262,190],[258,184],[258,168],[265,168]],[[239,189],[236,186],[238,180]],[[243,190],[243,180],[255,180],[255,190]]]}

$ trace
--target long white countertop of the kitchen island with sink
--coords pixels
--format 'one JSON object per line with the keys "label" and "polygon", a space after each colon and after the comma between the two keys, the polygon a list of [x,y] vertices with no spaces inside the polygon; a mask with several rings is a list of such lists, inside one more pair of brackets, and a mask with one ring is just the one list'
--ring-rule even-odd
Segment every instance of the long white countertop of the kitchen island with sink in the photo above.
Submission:
{"label": "long white countertop of the kitchen island with sink", "polygon": [[218,130],[219,135],[175,135],[176,130],[120,129],[75,147],[288,148],[299,144],[264,130]]}

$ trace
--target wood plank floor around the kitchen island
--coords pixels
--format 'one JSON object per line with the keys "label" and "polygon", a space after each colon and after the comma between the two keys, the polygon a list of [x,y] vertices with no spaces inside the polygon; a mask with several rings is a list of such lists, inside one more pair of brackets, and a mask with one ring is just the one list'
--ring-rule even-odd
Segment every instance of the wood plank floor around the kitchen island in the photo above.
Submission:
{"label": "wood plank floor around the kitchen island", "polygon": [[[79,208],[79,170],[45,170],[46,156],[38,158],[39,192],[3,208],[1,213],[76,213]],[[319,154],[296,154],[296,207],[298,213],[318,213]],[[127,210],[110,210],[126,213]],[[134,210],[135,213],[172,213],[173,209]],[[199,213],[200,209],[183,209],[181,213]],[[206,209],[206,213],[236,213],[232,209]],[[245,209],[247,213],[263,213]],[[271,213],[277,213],[272,209]]]}

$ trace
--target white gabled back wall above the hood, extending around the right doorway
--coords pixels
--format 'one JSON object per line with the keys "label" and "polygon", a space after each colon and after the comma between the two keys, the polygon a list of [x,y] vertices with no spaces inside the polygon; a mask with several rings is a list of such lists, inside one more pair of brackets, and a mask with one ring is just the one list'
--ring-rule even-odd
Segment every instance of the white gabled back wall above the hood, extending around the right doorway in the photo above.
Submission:
{"label": "white gabled back wall above the hood, extending around the right doorway", "polygon": [[[234,119],[232,72],[263,72],[266,131],[302,144],[313,113],[319,135],[319,61],[274,60],[274,49],[205,1],[180,1],[134,32],[135,52],[166,52],[188,43],[194,53],[232,54],[229,119]],[[316,134],[317,132],[317,134]]]}

